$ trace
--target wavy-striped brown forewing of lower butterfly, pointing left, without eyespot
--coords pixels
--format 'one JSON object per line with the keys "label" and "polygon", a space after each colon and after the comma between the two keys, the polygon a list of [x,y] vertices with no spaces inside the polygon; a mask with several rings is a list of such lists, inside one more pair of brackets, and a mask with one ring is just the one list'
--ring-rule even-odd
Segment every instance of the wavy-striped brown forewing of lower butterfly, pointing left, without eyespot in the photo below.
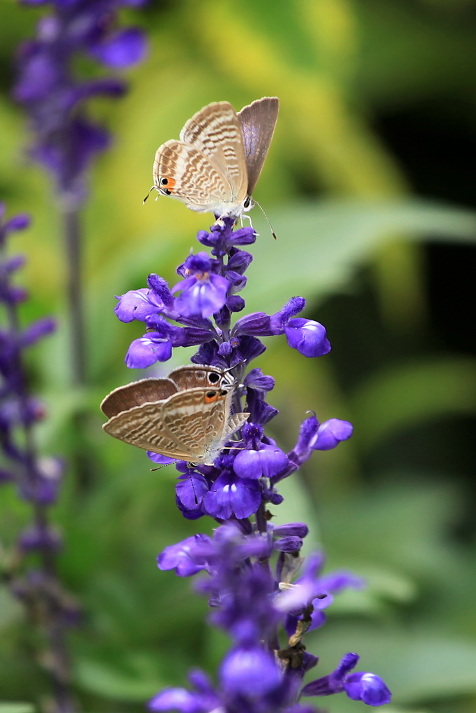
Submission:
{"label": "wavy-striped brown forewing of lower butterfly, pointing left, without eyespot", "polygon": [[[174,396],[178,396],[178,394],[174,394]],[[130,443],[131,446],[161,453],[162,456],[177,458],[180,461],[189,461],[191,453],[183,451],[181,443],[177,442],[177,439],[169,433],[164,424],[163,404],[167,404],[168,401],[170,399],[122,411],[121,414],[113,416],[106,424],[103,424],[103,429],[106,434],[118,438],[124,443]]]}

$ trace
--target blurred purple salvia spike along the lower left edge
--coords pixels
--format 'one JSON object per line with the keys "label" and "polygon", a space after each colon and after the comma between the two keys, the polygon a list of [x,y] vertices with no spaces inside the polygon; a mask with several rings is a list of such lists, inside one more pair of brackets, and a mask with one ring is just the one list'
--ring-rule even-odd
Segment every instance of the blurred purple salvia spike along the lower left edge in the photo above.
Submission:
{"label": "blurred purple salvia spike along the lower left edge", "polygon": [[[14,486],[31,506],[32,522],[20,533],[16,563],[7,570],[11,593],[29,612],[30,620],[46,630],[49,647],[41,652],[53,680],[55,710],[73,709],[68,686],[68,660],[64,641],[66,627],[79,619],[78,607],[64,593],[56,578],[56,553],[61,535],[49,524],[49,507],[56,502],[64,467],[59,458],[40,457],[34,438],[35,424],[44,418],[41,402],[30,394],[24,371],[24,351],[53,332],[53,319],[44,318],[21,327],[18,309],[27,298],[26,290],[14,284],[15,273],[24,264],[20,255],[9,257],[6,243],[11,235],[29,225],[29,217],[16,215],[3,220],[0,203],[0,305],[5,317],[0,324],[0,446],[5,466],[0,470],[0,487]],[[30,554],[35,568],[24,567]]]}

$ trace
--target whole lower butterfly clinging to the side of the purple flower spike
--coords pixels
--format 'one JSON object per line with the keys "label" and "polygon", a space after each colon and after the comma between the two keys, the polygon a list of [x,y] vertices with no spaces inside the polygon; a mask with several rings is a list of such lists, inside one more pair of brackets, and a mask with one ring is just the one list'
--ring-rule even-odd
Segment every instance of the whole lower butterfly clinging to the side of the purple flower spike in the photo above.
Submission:
{"label": "whole lower butterfly clinging to the side of the purple flower spike", "polygon": [[107,434],[178,461],[213,465],[226,441],[250,414],[232,413],[230,371],[179,366],[166,379],[119,386],[101,403]]}

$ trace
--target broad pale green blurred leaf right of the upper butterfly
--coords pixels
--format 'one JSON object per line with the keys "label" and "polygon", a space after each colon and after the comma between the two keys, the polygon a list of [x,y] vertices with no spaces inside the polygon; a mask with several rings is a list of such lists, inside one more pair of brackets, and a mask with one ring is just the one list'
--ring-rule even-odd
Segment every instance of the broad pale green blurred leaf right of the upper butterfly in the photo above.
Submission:
{"label": "broad pale green blurred leaf right of the upper butterfly", "polygon": [[309,302],[324,299],[343,289],[355,269],[395,235],[476,242],[475,212],[431,202],[329,200],[267,212],[278,240],[253,215],[260,237],[248,270],[250,311],[275,312],[293,294],[303,294]]}

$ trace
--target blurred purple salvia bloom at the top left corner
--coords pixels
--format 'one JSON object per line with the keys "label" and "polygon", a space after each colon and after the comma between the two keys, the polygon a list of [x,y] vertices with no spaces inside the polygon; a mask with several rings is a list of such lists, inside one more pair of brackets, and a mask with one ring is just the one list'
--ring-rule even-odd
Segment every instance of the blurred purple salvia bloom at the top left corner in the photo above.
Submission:
{"label": "blurred purple salvia bloom at the top left corner", "polygon": [[34,143],[30,153],[55,180],[61,199],[76,207],[84,199],[84,174],[91,160],[108,146],[108,132],[86,116],[95,96],[118,97],[123,81],[115,76],[81,80],[74,62],[83,54],[113,70],[140,61],[146,41],[139,29],[118,28],[121,7],[146,0],[22,0],[51,5],[39,21],[34,40],[19,48],[19,78],[14,97],[29,115]]}

